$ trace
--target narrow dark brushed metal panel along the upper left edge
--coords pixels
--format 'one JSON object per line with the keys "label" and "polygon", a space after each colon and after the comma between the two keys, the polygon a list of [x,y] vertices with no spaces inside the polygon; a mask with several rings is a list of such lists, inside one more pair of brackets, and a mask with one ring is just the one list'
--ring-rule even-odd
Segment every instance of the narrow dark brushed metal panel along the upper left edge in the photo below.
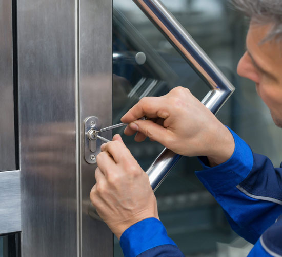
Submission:
{"label": "narrow dark brushed metal panel along the upper left edge", "polygon": [[12,1],[0,0],[0,171],[15,170]]}

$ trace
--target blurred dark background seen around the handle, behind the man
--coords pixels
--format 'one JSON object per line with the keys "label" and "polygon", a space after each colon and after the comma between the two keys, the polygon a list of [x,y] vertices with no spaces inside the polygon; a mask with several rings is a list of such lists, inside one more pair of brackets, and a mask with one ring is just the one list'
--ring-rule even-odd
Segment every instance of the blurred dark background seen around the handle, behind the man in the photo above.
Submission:
{"label": "blurred dark background seen around the handle, behind the man", "polygon": [[[254,152],[280,165],[282,133],[236,66],[245,51],[248,20],[226,0],[164,0],[176,19],[236,87],[217,114]],[[146,59],[146,60],[145,60]],[[113,0],[113,124],[140,98],[189,88],[199,99],[209,88],[132,0]],[[114,133],[123,134],[123,130]],[[163,146],[146,140],[126,145],[146,171]],[[160,220],[185,256],[247,256],[252,245],[232,232],[223,210],[194,175],[197,158],[183,157],[157,189]],[[114,257],[123,256],[114,238]]]}

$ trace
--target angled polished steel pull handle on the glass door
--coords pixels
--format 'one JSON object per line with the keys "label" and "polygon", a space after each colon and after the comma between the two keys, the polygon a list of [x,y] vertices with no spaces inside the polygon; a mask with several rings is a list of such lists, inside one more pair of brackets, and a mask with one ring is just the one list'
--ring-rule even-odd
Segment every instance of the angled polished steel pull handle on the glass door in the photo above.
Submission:
{"label": "angled polished steel pull handle on the glass door", "polygon": [[[149,17],[211,88],[202,103],[215,114],[233,93],[235,89],[233,85],[162,2],[159,0],[133,0],[133,2]],[[168,149],[164,149],[157,157],[147,170],[153,190],[157,189],[179,159],[179,155]]]}

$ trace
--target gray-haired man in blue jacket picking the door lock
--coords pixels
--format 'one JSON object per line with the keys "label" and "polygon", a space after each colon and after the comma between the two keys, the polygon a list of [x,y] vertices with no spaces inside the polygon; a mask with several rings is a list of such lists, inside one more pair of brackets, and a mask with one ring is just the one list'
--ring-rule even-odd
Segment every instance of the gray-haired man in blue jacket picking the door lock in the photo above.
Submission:
{"label": "gray-haired man in blue jacket picking the door lock", "polygon": [[[282,127],[282,1],[234,0],[251,16],[247,50],[237,72],[255,82],[257,94]],[[137,120],[146,115],[152,120]],[[199,157],[198,178],[223,207],[233,230],[254,244],[249,256],[282,256],[282,166],[252,153],[186,88],[143,98],[122,118],[136,131],[175,153]],[[207,125],[207,123],[209,125]],[[158,220],[148,176],[115,135],[97,156],[96,185],[90,197],[119,238],[126,257],[184,256]]]}

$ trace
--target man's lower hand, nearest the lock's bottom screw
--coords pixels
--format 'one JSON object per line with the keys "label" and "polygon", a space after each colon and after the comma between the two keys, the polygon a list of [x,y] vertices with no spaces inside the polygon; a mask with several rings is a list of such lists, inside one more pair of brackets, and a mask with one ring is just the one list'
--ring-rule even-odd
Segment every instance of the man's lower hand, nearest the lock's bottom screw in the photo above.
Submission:
{"label": "man's lower hand, nearest the lock's bottom screw", "polygon": [[158,219],[156,198],[147,174],[120,135],[103,144],[101,150],[90,199],[119,239],[131,225],[149,217]]}

